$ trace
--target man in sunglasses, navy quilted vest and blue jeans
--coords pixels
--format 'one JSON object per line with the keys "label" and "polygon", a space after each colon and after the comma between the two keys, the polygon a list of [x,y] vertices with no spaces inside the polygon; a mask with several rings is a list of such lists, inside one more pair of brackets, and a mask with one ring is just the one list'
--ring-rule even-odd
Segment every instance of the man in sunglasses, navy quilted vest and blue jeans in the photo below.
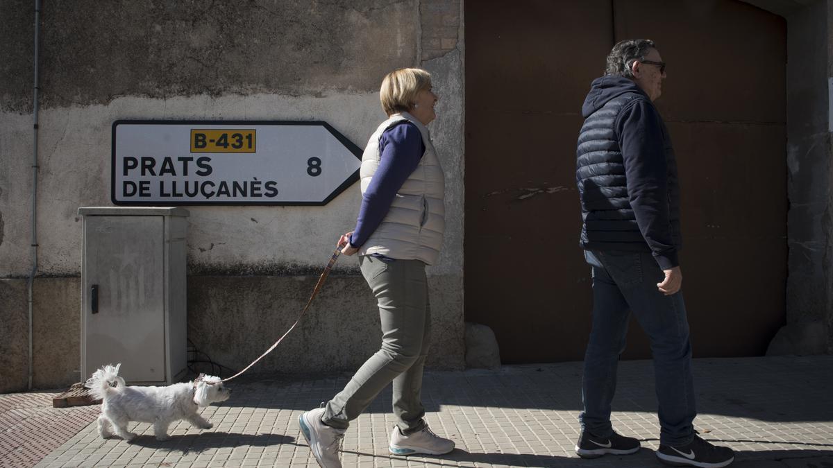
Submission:
{"label": "man in sunglasses, navy quilted vest and blue jeans", "polygon": [[581,246],[593,277],[593,327],[576,453],[595,458],[639,451],[639,441],[611,426],[616,366],[632,311],[654,356],[661,426],[656,456],[674,465],[727,466],[735,460],[731,449],[704,441],[691,424],[691,344],[677,261],[680,192],[671,140],[653,105],[665,68],[654,42],[619,42],[581,109],[576,181]]}

